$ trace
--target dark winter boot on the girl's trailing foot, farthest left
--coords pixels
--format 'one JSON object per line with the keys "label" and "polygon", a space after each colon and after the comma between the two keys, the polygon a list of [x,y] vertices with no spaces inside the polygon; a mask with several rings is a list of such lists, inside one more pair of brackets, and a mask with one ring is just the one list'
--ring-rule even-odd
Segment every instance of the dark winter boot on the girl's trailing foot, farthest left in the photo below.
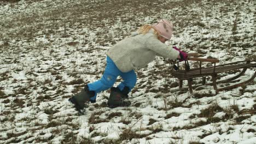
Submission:
{"label": "dark winter boot on the girl's trailing foot, farthest left", "polygon": [[74,104],[75,109],[77,109],[78,112],[82,113],[82,110],[85,107],[85,102],[89,101],[91,97],[94,97],[95,92],[89,91],[88,85],[84,87],[84,89],[75,94],[73,97],[69,98],[68,100],[71,101],[71,103]]}

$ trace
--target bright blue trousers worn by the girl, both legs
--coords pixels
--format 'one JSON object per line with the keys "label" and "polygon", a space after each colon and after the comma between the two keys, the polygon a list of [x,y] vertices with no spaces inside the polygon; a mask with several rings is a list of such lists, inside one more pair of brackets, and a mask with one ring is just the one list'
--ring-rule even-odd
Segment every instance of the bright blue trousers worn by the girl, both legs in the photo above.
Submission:
{"label": "bright blue trousers worn by the girl, both legs", "polygon": [[134,70],[128,71],[127,73],[123,73],[117,68],[117,65],[107,56],[107,65],[104,71],[103,76],[100,80],[95,81],[93,83],[89,83],[89,91],[95,91],[95,96],[91,98],[91,100],[96,100],[97,93],[104,91],[110,87],[112,87],[117,80],[117,77],[121,76],[123,82],[118,85],[118,88],[122,91],[125,86],[129,87],[129,90],[135,87],[137,76]]}

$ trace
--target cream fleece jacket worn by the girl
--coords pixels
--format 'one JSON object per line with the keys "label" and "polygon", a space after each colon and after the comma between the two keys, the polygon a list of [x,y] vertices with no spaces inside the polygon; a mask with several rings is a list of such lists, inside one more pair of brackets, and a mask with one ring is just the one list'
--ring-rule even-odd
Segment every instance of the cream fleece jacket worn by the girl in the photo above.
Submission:
{"label": "cream fleece jacket worn by the girl", "polygon": [[162,43],[153,29],[146,34],[132,34],[110,47],[106,53],[123,73],[142,68],[155,59],[155,56],[177,59],[179,52]]}

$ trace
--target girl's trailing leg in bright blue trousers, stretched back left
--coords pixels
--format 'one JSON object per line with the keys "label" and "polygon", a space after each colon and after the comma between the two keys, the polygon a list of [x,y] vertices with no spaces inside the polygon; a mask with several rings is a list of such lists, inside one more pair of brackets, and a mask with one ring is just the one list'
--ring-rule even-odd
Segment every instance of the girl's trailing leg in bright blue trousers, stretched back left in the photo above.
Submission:
{"label": "girl's trailing leg in bright blue trousers, stretched back left", "polygon": [[121,71],[117,68],[112,59],[107,57],[107,65],[102,78],[96,82],[88,84],[89,90],[95,92],[95,96],[90,100],[95,101],[97,93],[112,87],[120,74]]}

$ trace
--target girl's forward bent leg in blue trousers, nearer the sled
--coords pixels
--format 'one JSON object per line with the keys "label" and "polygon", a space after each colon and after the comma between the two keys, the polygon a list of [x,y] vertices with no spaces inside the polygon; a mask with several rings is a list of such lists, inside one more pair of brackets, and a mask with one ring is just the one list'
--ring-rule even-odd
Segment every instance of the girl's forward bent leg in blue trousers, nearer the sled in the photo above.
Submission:
{"label": "girl's forward bent leg in blue trousers, nearer the sled", "polygon": [[131,89],[135,87],[137,76],[134,70],[128,71],[127,73],[121,73],[120,76],[123,79],[123,82],[121,82],[118,85],[118,88],[123,91],[124,87],[129,88],[129,92],[131,92]]}

